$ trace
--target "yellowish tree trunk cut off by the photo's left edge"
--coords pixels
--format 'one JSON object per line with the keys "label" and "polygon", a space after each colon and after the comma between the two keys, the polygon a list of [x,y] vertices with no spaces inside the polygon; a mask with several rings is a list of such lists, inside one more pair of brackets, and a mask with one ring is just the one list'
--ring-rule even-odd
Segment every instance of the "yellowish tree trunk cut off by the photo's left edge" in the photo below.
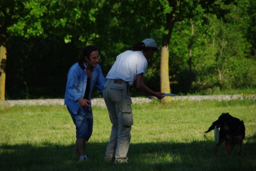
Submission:
{"label": "yellowish tree trunk cut off by the photo's left edge", "polygon": [[6,47],[0,46],[0,107],[5,103]]}

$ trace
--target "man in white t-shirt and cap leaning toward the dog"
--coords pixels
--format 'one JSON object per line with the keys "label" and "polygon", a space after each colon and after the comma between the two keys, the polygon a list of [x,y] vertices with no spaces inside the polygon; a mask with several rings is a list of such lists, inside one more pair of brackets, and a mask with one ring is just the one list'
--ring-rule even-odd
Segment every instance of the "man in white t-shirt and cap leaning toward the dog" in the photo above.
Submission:
{"label": "man in white t-shirt and cap leaning toward the dog", "polygon": [[144,84],[144,73],[148,66],[147,59],[159,51],[153,39],[135,43],[132,50],[118,55],[106,76],[103,96],[108,108],[112,130],[104,161],[127,163],[131,126],[133,125],[132,100],[129,86],[136,81],[136,87],[152,96],[162,99],[161,92],[152,91]]}

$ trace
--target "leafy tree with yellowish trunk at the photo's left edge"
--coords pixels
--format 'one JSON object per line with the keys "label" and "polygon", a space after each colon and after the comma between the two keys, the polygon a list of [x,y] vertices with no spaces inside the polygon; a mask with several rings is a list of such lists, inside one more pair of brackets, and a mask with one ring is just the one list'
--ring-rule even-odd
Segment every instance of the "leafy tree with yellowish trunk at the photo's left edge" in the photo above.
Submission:
{"label": "leafy tree with yellowish trunk at the photo's left edge", "polygon": [[[92,42],[94,13],[98,1],[90,0],[2,0],[0,2],[0,100],[5,99],[6,43],[12,37],[25,39],[60,37],[80,48]],[[81,46],[82,45],[82,46]],[[53,47],[52,47],[53,49]],[[8,52],[7,52],[8,54]]]}

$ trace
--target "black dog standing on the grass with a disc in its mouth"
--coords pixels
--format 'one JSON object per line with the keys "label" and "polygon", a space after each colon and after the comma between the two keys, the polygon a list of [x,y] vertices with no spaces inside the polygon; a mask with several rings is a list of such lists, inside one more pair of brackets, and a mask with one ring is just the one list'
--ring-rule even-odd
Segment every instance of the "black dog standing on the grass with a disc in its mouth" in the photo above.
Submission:
{"label": "black dog standing on the grass with a disc in its mouth", "polygon": [[229,113],[222,113],[222,115],[219,116],[219,119],[214,121],[205,133],[214,129],[215,125],[220,128],[220,138],[213,151],[213,155],[216,155],[218,148],[225,141],[226,154],[231,155],[233,147],[238,144],[237,152],[240,156],[243,139],[245,137],[244,122],[231,116]]}

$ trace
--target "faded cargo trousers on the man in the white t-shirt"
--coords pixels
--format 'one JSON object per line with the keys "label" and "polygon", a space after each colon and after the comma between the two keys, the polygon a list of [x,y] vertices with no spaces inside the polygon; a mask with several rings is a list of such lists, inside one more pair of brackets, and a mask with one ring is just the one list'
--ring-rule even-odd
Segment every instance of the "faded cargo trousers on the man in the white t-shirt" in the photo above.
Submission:
{"label": "faded cargo trousers on the man in the white t-shirt", "polygon": [[117,162],[126,162],[131,140],[130,131],[133,124],[132,100],[128,85],[124,81],[118,84],[114,80],[107,80],[103,96],[112,123],[110,141],[105,157],[115,159]]}

